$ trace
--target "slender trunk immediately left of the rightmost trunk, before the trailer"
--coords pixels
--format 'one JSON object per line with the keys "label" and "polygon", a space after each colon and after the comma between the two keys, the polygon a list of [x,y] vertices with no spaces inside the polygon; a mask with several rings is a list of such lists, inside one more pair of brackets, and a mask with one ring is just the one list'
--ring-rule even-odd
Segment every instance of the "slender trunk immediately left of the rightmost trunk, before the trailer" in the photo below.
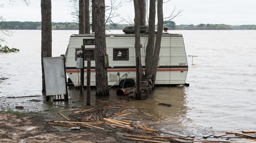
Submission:
{"label": "slender trunk immediately left of the rightmost trunk, before the trailer", "polygon": [[146,49],[145,75],[152,74],[152,58],[155,43],[156,0],[149,1],[148,44]]}

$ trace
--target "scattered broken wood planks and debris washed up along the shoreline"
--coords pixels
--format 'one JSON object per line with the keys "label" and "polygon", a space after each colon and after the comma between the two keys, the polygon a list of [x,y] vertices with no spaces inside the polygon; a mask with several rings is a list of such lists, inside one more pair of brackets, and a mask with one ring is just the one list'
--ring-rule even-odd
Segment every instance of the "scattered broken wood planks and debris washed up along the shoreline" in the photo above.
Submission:
{"label": "scattered broken wood planks and debris washed up along the shoreline", "polygon": [[[64,119],[62,121],[52,121],[48,124],[64,127],[77,127],[84,130],[115,130],[126,133],[126,140],[137,140],[141,142],[156,142],[156,143],[192,143],[192,142],[239,142],[251,143],[256,141],[256,133],[254,130],[238,132],[229,132],[217,134],[214,132],[203,133],[203,136],[183,135],[178,134],[180,131],[160,130],[154,125],[163,125],[168,123],[155,123],[151,120],[141,120],[129,118],[129,114],[138,112],[143,114],[142,109],[133,109],[117,103],[117,101],[101,101],[91,103],[91,106],[83,106],[81,108],[59,111],[58,114]],[[133,110],[132,110],[133,109]],[[61,112],[61,113],[60,113]],[[124,117],[124,118],[123,118]],[[64,121],[65,120],[65,121]],[[174,126],[175,127],[175,126]],[[182,127],[182,126],[181,126]],[[176,132],[176,133],[175,133]],[[231,136],[232,135],[232,136]],[[210,137],[211,136],[211,137]],[[212,137],[213,136],[213,137]],[[211,138],[211,140],[209,140]],[[216,138],[216,140],[212,139]],[[235,138],[249,138],[247,141],[231,141]]]}

